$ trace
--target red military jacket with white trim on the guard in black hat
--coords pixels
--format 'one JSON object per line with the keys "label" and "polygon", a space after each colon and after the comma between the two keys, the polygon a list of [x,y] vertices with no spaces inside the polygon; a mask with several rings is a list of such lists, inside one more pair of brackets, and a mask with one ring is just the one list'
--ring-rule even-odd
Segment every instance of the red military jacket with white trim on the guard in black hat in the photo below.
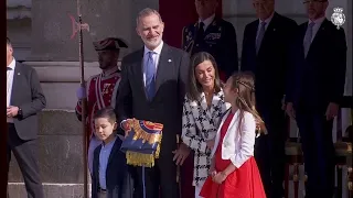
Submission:
{"label": "red military jacket with white trim on the guard in black hat", "polygon": [[[120,73],[116,69],[108,74],[99,74],[90,77],[86,84],[87,96],[87,129],[89,138],[94,134],[94,114],[103,108],[116,105],[116,96],[120,82]],[[82,101],[76,105],[76,116],[82,118]]]}

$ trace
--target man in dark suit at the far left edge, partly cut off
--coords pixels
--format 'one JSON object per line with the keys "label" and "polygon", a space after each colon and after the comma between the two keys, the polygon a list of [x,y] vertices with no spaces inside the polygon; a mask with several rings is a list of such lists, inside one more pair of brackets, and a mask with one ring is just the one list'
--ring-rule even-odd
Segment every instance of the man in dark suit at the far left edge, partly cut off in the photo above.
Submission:
{"label": "man in dark suit at the far left edge, partly cut off", "polygon": [[7,38],[7,116],[8,116],[8,170],[11,152],[23,175],[29,198],[42,198],[43,187],[36,156],[36,113],[45,108],[40,80],[35,70],[12,56],[13,48]]}

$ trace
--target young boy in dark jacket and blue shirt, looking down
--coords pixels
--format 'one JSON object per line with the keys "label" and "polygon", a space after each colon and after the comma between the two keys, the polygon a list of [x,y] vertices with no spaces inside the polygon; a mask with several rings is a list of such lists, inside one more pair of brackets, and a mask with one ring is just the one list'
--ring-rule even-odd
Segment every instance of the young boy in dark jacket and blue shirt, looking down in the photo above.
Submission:
{"label": "young boy in dark jacket and blue shirt, looking down", "polygon": [[94,152],[92,198],[132,198],[133,182],[120,151],[124,138],[116,134],[114,109],[100,109],[94,121],[96,136],[103,143]]}

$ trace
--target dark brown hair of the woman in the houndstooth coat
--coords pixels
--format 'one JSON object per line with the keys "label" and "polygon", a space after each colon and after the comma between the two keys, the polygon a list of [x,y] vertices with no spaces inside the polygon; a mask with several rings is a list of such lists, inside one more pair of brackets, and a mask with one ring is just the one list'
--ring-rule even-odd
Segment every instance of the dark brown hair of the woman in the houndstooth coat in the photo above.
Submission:
{"label": "dark brown hair of the woman in the houndstooth coat", "polygon": [[200,96],[203,92],[202,85],[197,81],[195,77],[195,69],[196,66],[205,61],[210,61],[214,68],[214,91],[220,92],[222,88],[222,84],[220,80],[220,74],[216,61],[214,57],[206,53],[206,52],[200,52],[194,54],[191,57],[190,67],[189,67],[189,81],[188,81],[188,88],[186,88],[186,96],[190,100],[200,100]]}

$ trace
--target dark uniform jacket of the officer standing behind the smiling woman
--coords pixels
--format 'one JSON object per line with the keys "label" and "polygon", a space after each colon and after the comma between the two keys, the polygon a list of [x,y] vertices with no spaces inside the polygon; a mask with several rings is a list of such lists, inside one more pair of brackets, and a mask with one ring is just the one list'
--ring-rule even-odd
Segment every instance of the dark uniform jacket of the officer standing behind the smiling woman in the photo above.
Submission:
{"label": "dark uniform jacket of the officer standing behind the smiling woman", "polygon": [[210,53],[217,62],[221,79],[238,70],[238,53],[235,29],[232,23],[215,16],[201,38],[196,37],[199,22],[190,24],[182,32],[182,48],[191,55]]}

